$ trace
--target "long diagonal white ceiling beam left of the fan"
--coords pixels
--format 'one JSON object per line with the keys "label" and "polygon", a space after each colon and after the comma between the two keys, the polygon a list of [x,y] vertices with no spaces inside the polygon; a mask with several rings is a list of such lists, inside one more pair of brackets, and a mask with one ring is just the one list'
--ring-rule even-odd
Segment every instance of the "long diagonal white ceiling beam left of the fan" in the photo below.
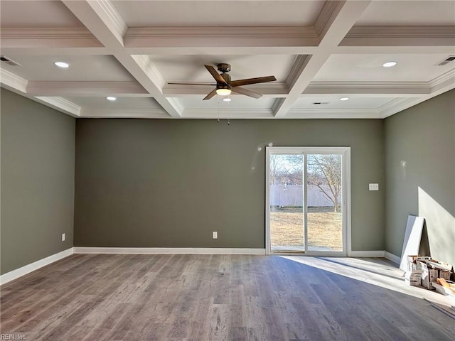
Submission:
{"label": "long diagonal white ceiling beam left of the fan", "polygon": [[[64,0],[63,4],[84,24],[85,27],[100,42],[105,45],[125,69],[144,87],[168,112],[171,117],[181,117],[181,106],[176,101],[169,101],[161,92],[164,84],[157,82],[157,77],[151,77],[144,70],[144,65],[139,65],[134,56],[127,53],[123,45],[123,37],[127,32],[127,24],[119,16],[114,6],[107,0],[70,1]],[[149,68],[151,62],[149,62]]]}

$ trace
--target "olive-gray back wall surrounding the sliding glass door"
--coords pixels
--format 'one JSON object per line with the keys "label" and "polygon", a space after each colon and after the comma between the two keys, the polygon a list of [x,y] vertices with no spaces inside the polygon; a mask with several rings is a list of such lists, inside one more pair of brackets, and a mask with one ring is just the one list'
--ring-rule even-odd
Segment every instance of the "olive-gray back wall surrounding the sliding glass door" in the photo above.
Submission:
{"label": "olive-gray back wall surrounding the sliding glass door", "polygon": [[375,119],[77,119],[75,246],[264,248],[257,147],[271,141],[351,146],[353,250],[384,249],[385,193],[368,191],[384,183]]}

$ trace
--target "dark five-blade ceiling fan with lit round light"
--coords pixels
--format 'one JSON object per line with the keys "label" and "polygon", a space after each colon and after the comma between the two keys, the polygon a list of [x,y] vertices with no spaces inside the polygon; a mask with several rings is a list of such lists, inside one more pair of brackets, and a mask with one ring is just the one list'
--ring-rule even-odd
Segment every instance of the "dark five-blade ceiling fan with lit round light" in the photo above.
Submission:
{"label": "dark five-blade ceiling fan with lit round light", "polygon": [[[245,94],[246,96],[250,96],[253,98],[262,97],[262,94],[258,94],[257,92],[247,90],[244,87],[240,87],[240,85],[250,85],[250,84],[257,84],[257,83],[264,83],[264,82],[273,82],[277,80],[274,76],[266,76],[266,77],[256,77],[256,78],[246,78],[245,80],[231,80],[230,75],[227,72],[230,71],[230,64],[220,63],[217,65],[218,71],[221,73],[216,72],[215,67],[212,65],[204,65],[205,68],[210,72],[213,78],[216,80],[216,87],[212,91],[209,92],[207,96],[203,98],[203,100],[207,100],[215,96],[215,94],[219,94],[220,96],[228,96],[231,92],[237,92],[237,94]],[[168,82],[168,84],[176,84],[176,85],[214,85],[213,83],[176,83],[176,82]]]}

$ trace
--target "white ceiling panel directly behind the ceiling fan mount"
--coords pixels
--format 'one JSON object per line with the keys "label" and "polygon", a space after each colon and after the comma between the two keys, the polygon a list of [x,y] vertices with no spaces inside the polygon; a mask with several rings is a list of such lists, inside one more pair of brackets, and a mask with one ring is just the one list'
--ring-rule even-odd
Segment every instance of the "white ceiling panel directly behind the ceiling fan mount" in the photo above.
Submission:
{"label": "white ceiling panel directly behind the ceiling fan mount", "polygon": [[294,55],[151,55],[152,62],[168,82],[212,82],[204,65],[231,65],[232,80],[274,75],[278,82],[286,80]]}

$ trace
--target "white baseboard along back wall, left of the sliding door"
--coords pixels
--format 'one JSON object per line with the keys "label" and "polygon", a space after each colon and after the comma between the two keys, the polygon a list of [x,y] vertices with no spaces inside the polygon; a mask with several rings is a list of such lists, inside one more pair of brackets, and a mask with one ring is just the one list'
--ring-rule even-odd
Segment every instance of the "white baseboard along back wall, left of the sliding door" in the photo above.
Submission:
{"label": "white baseboard along back wall, left of the sliding door", "polygon": [[265,249],[222,247],[74,247],[75,254],[257,254]]}

